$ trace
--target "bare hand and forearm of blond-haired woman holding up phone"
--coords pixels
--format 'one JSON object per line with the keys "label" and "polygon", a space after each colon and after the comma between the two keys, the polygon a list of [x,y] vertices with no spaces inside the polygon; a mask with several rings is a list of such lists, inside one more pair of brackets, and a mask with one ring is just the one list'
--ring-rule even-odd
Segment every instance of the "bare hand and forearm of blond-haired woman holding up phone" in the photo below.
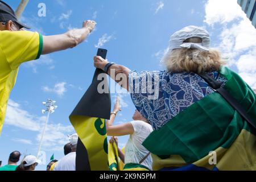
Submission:
{"label": "bare hand and forearm of blond-haired woman holding up phone", "polygon": [[[105,65],[108,64],[109,61],[103,59],[101,56],[94,56],[94,67],[104,70]],[[114,74],[111,74],[111,72],[114,71]],[[130,69],[119,64],[112,65],[108,70],[108,75],[115,80],[122,88],[129,91],[129,72]],[[123,74],[122,76],[119,74]],[[119,78],[119,76],[124,77],[126,79],[127,84],[123,84],[121,81],[122,79]]]}

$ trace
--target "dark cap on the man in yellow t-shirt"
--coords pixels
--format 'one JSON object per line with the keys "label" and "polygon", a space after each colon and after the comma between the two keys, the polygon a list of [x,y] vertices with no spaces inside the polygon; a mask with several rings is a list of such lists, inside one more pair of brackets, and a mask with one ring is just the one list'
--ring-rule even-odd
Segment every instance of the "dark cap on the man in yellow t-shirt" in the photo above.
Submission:
{"label": "dark cap on the man in yellow t-shirt", "polygon": [[20,28],[30,29],[26,24],[18,21],[14,10],[9,5],[0,0],[0,22],[8,22],[9,20],[18,24]]}

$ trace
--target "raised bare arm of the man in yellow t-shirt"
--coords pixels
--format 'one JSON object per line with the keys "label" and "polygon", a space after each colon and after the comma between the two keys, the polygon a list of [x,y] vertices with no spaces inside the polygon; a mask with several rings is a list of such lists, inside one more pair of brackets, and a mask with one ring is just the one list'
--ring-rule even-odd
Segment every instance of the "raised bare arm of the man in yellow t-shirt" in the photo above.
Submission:
{"label": "raised bare arm of the man in yellow t-shirt", "polygon": [[82,28],[69,30],[64,34],[43,36],[42,55],[76,47],[86,39],[95,25],[96,22],[87,20],[82,23]]}

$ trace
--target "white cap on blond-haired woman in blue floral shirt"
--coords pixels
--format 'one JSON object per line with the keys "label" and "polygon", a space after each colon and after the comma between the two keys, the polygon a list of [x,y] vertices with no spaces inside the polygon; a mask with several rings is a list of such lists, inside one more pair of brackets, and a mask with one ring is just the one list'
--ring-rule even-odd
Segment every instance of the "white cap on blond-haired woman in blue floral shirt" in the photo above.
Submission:
{"label": "white cap on blond-haired woman in blue floral shirt", "polygon": [[[184,43],[186,39],[198,37],[202,43]],[[169,50],[180,48],[196,48],[203,51],[210,51],[210,35],[207,30],[197,26],[187,26],[176,31],[170,38]]]}

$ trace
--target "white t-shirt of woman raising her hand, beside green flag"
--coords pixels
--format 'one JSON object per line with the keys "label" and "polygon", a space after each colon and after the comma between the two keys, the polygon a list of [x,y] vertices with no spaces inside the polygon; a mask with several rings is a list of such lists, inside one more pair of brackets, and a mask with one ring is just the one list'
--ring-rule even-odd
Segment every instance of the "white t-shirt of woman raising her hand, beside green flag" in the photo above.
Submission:
{"label": "white t-shirt of woman raising her hand, beside green flag", "polygon": [[[125,164],[139,162],[148,154],[148,150],[142,146],[144,140],[153,131],[152,126],[144,121],[131,121],[134,133],[125,146]],[[149,155],[142,163],[148,169],[152,170],[152,158]]]}

